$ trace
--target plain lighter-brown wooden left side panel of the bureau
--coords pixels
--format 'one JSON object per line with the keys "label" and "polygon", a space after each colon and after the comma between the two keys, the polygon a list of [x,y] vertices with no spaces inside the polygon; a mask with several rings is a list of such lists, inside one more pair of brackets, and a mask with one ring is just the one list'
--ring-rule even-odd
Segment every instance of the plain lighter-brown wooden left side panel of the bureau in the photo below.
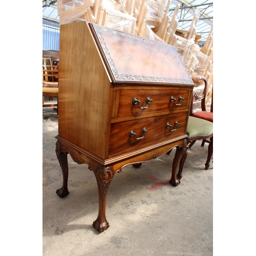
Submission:
{"label": "plain lighter-brown wooden left side panel of the bureau", "polygon": [[111,81],[86,22],[62,25],[59,136],[104,159],[108,154]]}

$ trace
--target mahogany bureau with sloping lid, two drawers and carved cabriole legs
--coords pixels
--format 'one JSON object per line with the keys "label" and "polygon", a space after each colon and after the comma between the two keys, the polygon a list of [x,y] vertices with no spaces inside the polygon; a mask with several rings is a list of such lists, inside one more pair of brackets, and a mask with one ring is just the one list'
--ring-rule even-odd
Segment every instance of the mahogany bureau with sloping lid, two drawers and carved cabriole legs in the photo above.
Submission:
{"label": "mahogany bureau with sloping lid, two drawers and carved cabriole legs", "polygon": [[61,25],[56,155],[68,191],[68,158],[93,170],[99,196],[93,226],[104,231],[111,181],[123,167],[174,147],[170,183],[186,147],[194,83],[175,47],[87,22]]}

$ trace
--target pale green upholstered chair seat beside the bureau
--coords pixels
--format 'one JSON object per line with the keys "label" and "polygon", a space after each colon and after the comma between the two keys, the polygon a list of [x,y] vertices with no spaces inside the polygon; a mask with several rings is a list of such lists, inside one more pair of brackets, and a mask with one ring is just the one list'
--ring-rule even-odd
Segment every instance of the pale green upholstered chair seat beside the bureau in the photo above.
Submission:
{"label": "pale green upholstered chair seat beside the bureau", "polygon": [[204,119],[189,116],[187,124],[188,138],[208,136],[214,133],[214,124]]}

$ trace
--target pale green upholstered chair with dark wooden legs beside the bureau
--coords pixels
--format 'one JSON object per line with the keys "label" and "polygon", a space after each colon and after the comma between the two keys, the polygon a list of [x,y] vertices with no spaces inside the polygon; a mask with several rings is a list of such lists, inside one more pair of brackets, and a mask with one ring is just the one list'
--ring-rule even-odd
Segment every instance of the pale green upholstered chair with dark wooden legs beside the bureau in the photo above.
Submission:
{"label": "pale green upholstered chair with dark wooden legs beside the bureau", "polygon": [[180,160],[179,171],[177,175],[179,180],[182,178],[182,169],[187,158],[187,150],[189,148],[189,143],[194,142],[196,140],[209,139],[208,155],[205,163],[206,170],[210,166],[210,159],[212,156],[212,152],[214,150],[213,148],[214,124],[212,122],[201,119],[201,118],[189,116],[188,123],[187,123],[187,135],[188,135],[188,138],[187,138],[188,146],[186,147],[186,150]]}

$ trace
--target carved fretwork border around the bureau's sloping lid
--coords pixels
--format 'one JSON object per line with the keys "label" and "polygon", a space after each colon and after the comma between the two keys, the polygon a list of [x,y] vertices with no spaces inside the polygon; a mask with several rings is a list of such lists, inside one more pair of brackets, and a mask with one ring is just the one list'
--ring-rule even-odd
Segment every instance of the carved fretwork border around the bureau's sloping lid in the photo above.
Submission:
{"label": "carved fretwork border around the bureau's sloping lid", "polygon": [[113,35],[119,35],[119,36],[124,36],[124,37],[128,37],[128,38],[133,38],[134,40],[141,40],[147,44],[153,44],[153,45],[157,45],[157,46],[161,46],[161,47],[165,47],[165,48],[169,48],[174,50],[177,53],[177,56],[179,57],[182,66],[184,67],[185,72],[187,73],[188,77],[190,77],[190,75],[187,72],[187,69],[183,63],[183,61],[181,60],[181,57],[177,51],[177,49],[174,46],[170,46],[167,44],[163,44],[162,42],[159,41],[155,41],[155,40],[151,40],[151,39],[147,39],[141,36],[137,36],[137,35],[133,35],[133,34],[128,34],[122,31],[118,31],[118,30],[114,30],[111,28],[107,28],[107,27],[103,27],[103,26],[99,26],[96,24],[92,24],[94,31],[98,37],[100,46],[104,52],[105,58],[109,63],[110,69],[112,71],[112,74],[115,78],[116,81],[141,81],[141,82],[163,82],[163,83],[181,83],[181,84],[193,84],[192,79],[177,79],[177,78],[167,78],[167,77],[154,77],[154,76],[139,76],[139,75],[128,75],[128,74],[119,74],[115,63],[111,57],[111,54],[109,52],[108,47],[106,46],[106,43],[104,41],[104,38],[102,36],[101,31],[105,31],[108,33],[112,33]]}

